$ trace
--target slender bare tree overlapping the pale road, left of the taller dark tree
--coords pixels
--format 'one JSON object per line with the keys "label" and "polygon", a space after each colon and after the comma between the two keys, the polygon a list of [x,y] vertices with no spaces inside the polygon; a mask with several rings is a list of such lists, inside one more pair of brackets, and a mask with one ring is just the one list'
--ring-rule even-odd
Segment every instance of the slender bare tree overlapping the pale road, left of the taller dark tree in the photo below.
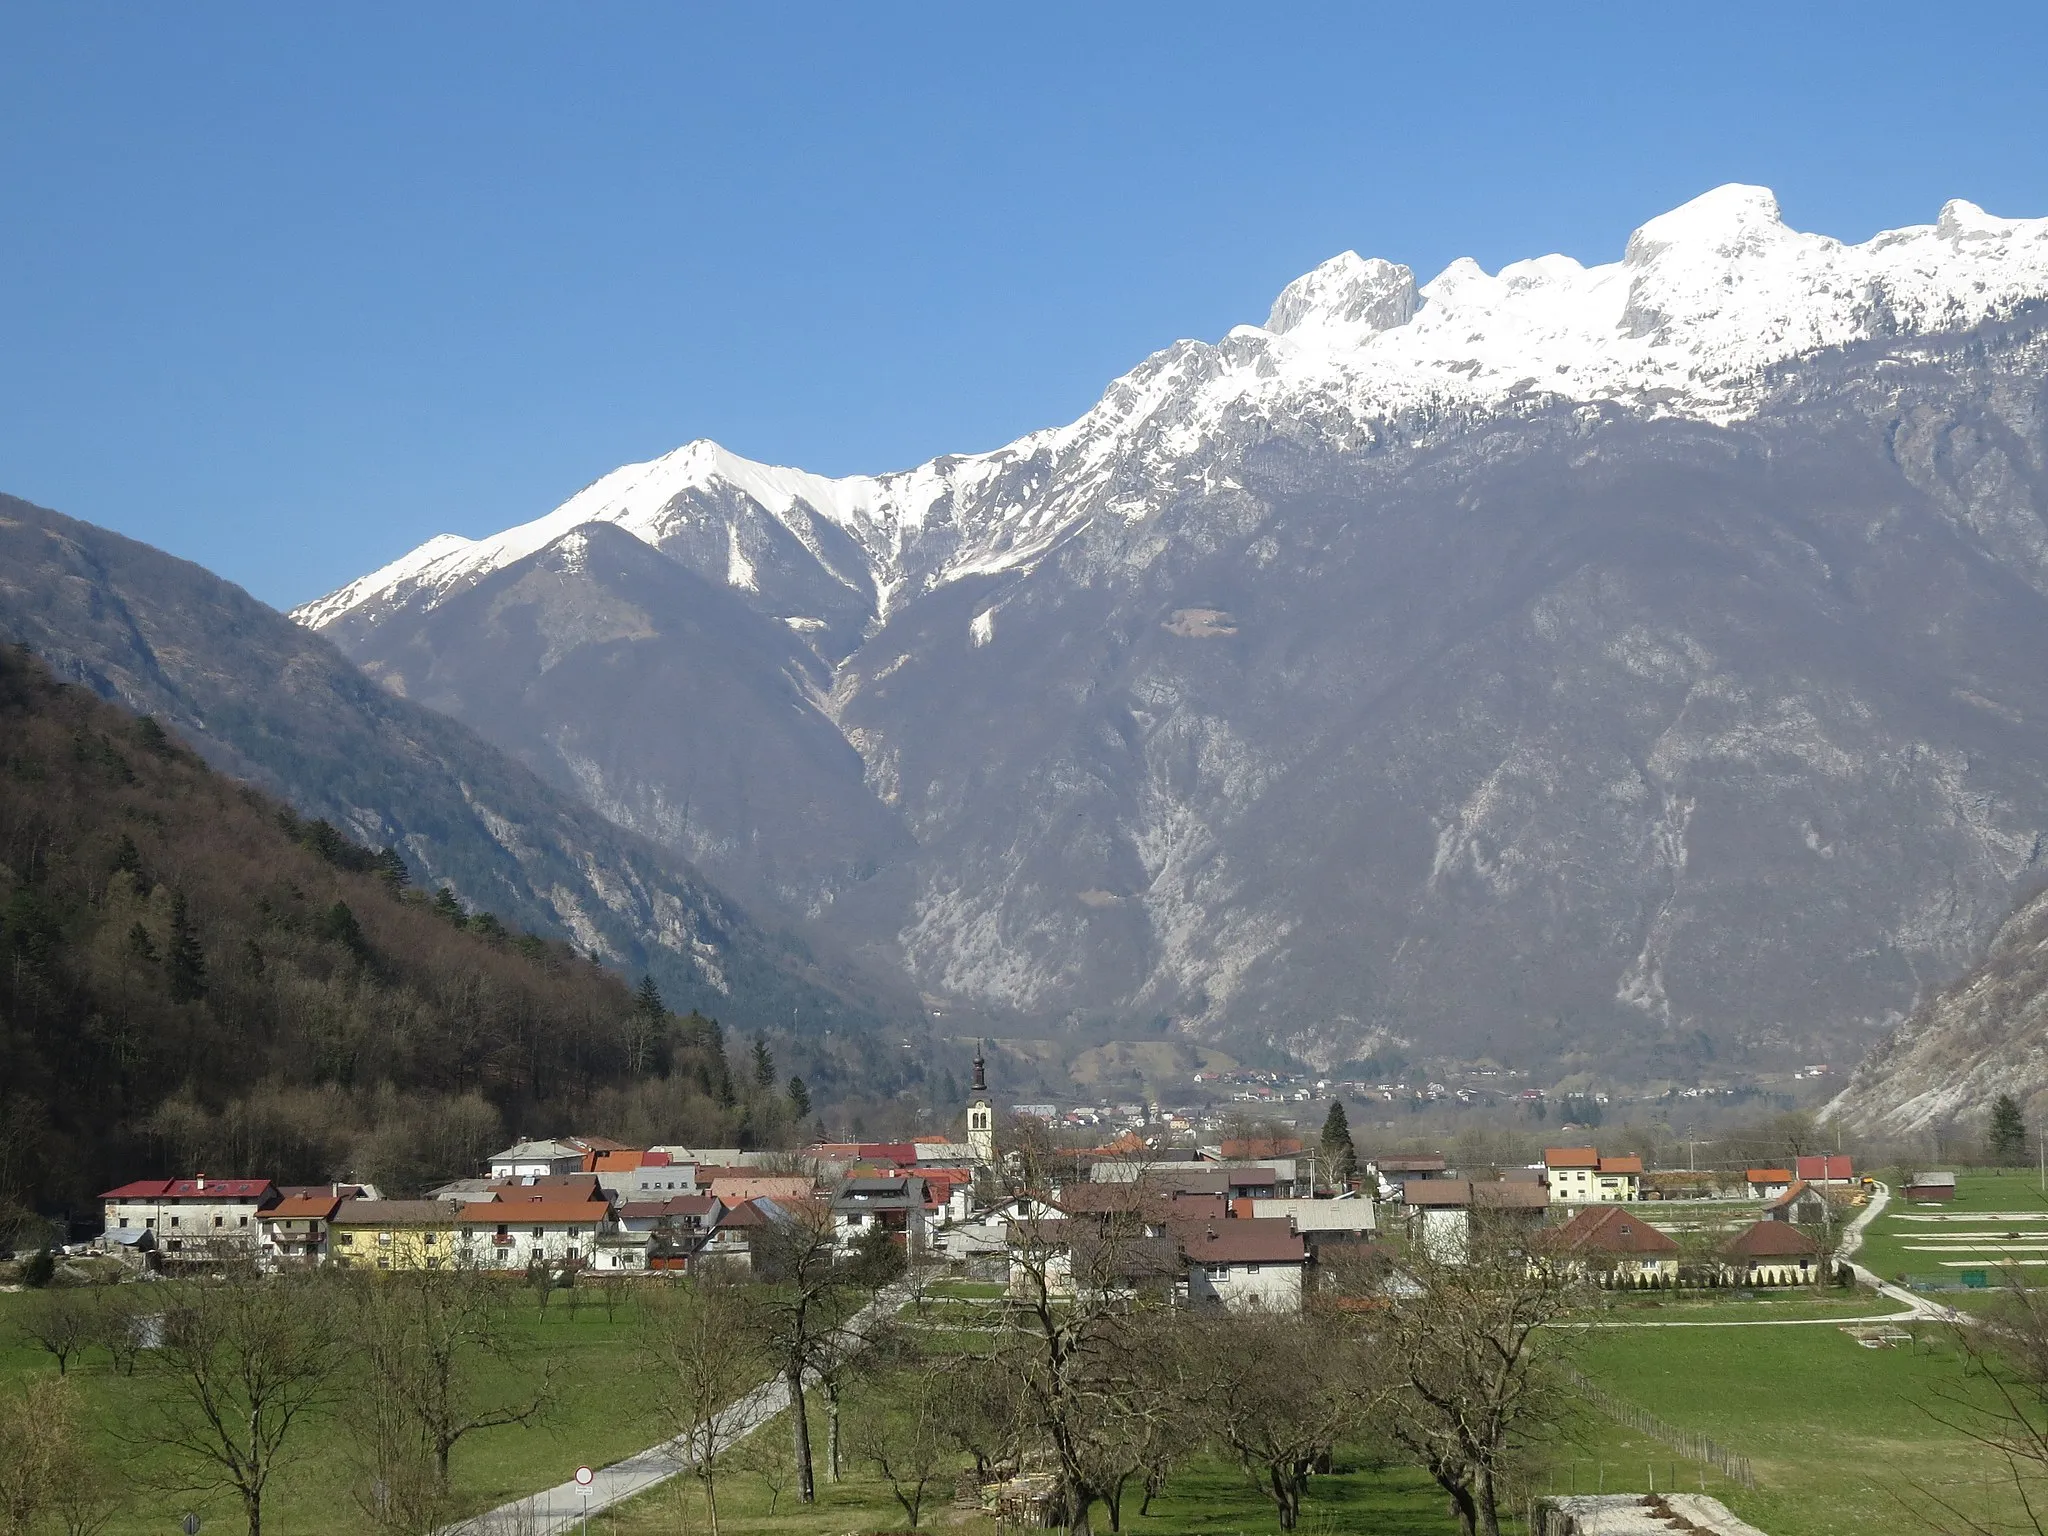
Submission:
{"label": "slender bare tree overlapping the pale road, left of the taller dark tree", "polygon": [[719,1536],[719,1466],[745,1434],[733,1405],[760,1380],[762,1352],[737,1288],[688,1280],[643,1298],[643,1356],[674,1454],[705,1489]]}

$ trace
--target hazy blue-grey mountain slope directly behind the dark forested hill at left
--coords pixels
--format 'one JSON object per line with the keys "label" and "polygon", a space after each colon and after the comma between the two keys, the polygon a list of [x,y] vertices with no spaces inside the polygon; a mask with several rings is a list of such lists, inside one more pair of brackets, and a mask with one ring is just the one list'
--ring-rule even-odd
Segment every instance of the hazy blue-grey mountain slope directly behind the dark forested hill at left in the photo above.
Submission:
{"label": "hazy blue-grey mountain slope directly behind the dark forested hill at left", "polygon": [[748,1026],[879,1016],[844,971],[762,930],[676,854],[197,565],[0,496],[0,639],[156,715],[215,768],[397,848],[416,881],[651,971],[672,1004]]}

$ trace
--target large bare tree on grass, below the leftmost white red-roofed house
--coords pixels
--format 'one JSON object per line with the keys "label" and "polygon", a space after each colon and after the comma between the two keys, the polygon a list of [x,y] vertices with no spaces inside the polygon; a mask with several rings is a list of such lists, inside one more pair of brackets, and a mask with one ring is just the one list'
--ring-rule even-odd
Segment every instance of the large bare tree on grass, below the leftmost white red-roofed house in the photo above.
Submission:
{"label": "large bare tree on grass, below the leftmost white red-roofed house", "polygon": [[293,1432],[342,1362],[332,1288],[315,1278],[197,1282],[164,1311],[150,1350],[154,1417],[139,1438],[164,1452],[166,1487],[233,1493],[250,1536]]}

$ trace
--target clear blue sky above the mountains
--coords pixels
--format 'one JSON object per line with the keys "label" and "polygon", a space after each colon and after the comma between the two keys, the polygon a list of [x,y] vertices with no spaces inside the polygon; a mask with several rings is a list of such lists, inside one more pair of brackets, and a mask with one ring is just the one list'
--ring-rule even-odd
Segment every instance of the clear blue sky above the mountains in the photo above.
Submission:
{"label": "clear blue sky above the mountains", "polygon": [[1346,248],[2048,213],[2042,6],[0,8],[0,489],[291,604],[1069,420]]}

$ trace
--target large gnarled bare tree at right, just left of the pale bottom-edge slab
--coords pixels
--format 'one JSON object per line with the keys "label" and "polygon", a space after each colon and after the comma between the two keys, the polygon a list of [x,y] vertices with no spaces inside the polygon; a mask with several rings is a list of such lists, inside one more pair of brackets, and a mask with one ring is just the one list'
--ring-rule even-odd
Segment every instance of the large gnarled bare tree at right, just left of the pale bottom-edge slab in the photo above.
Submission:
{"label": "large gnarled bare tree at right, just left of the pale bottom-edge slab", "polygon": [[1581,1282],[1477,1210],[1462,1262],[1417,1251],[1407,1268],[1413,1284],[1382,1315],[1395,1382],[1378,1421],[1450,1495],[1464,1536],[1499,1536],[1499,1483],[1565,1397],[1571,1335],[1548,1325],[1581,1303]]}

